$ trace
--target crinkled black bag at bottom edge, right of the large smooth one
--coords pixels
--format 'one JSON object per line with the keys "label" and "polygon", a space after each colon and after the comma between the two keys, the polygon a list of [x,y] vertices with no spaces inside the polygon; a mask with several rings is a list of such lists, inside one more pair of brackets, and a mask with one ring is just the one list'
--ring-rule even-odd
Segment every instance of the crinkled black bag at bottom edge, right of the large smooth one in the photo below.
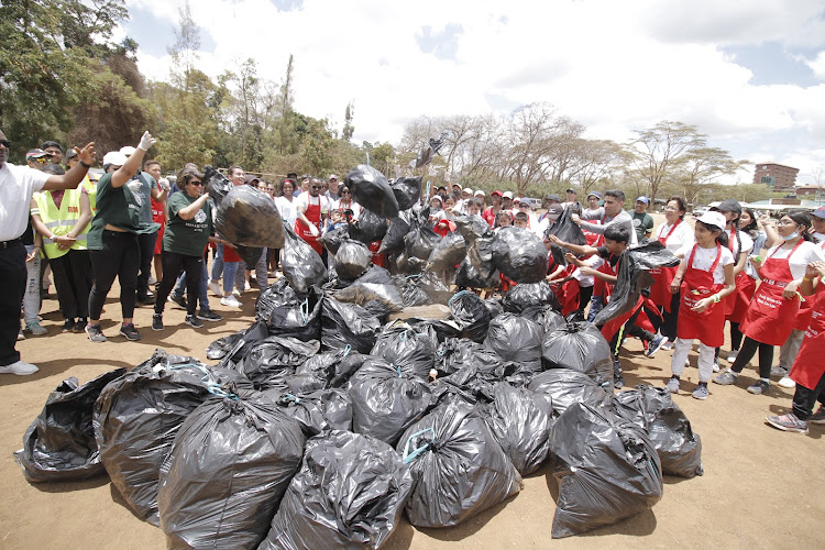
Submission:
{"label": "crinkled black bag at bottom edge, right of the large smooth one", "polygon": [[381,548],[411,486],[409,469],[383,441],[340,430],[317,436],[258,548]]}

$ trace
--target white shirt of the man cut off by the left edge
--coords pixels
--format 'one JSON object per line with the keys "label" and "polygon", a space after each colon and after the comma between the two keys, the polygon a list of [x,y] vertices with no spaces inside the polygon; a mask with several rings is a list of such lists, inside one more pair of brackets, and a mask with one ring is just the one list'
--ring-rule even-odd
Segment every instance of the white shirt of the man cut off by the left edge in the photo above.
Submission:
{"label": "white shirt of the man cut off by the left edge", "polygon": [[11,241],[23,234],[32,195],[43,189],[51,176],[29,166],[3,164],[0,168],[0,241]]}

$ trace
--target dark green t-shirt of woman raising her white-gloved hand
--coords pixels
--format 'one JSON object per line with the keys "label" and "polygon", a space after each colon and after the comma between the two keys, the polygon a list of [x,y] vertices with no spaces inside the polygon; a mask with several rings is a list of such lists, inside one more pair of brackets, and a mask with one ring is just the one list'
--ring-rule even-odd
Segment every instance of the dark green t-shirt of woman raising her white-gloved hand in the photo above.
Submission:
{"label": "dark green t-shirt of woman raising her white-gloved hand", "polygon": [[113,226],[130,233],[152,233],[161,228],[160,223],[141,223],[143,209],[141,197],[135,196],[129,185],[112,187],[112,174],[100,177],[97,188],[97,212],[89,229],[88,249],[103,249],[103,229]]}

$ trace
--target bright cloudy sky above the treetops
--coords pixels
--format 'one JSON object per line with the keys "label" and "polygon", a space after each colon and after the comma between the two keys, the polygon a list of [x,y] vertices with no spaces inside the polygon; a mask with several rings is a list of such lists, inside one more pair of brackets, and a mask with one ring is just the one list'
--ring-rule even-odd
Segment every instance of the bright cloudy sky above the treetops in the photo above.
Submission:
{"label": "bright cloudy sky above the treetops", "polygon": [[[127,0],[139,66],[169,73],[183,0]],[[200,68],[253,57],[295,108],[397,143],[421,116],[507,113],[535,101],[625,141],[695,124],[736,160],[825,169],[825,0],[197,0]],[[744,173],[740,180],[752,174]],[[825,182],[824,182],[825,183]]]}

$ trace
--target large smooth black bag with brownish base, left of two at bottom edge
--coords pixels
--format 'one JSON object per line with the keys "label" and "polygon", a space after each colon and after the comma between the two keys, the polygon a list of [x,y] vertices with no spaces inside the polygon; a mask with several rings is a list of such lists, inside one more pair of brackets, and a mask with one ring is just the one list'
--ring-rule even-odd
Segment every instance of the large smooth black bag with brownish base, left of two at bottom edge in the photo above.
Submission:
{"label": "large smooth black bag with brownish base, left of two at bottom edge", "polygon": [[195,409],[161,469],[168,548],[255,548],[300,468],[300,426],[257,393]]}

